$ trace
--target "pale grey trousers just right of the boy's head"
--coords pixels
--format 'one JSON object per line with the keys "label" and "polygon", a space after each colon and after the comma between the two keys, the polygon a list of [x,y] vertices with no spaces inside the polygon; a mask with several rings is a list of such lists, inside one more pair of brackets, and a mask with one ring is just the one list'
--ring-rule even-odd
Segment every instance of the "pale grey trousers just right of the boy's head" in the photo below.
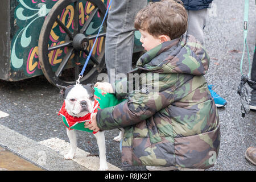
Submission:
{"label": "pale grey trousers just right of the boy's head", "polygon": [[188,13],[188,30],[187,34],[195,36],[202,44],[204,44],[204,32],[207,21],[207,9],[203,10],[187,10]]}

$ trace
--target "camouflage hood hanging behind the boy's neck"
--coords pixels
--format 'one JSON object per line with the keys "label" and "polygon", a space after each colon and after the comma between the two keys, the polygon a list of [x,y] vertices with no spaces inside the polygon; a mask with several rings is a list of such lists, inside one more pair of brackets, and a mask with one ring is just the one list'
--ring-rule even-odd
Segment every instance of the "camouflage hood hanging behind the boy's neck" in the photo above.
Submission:
{"label": "camouflage hood hanging behind the boy's neck", "polygon": [[209,56],[199,41],[192,35],[163,42],[144,53],[136,68],[155,73],[185,73],[204,75],[209,67]]}

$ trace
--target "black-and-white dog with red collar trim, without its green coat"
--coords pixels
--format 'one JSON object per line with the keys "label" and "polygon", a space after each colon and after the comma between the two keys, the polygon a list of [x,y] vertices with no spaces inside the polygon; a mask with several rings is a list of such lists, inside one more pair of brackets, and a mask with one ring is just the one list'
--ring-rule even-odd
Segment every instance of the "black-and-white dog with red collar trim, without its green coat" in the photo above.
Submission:
{"label": "black-and-white dog with red collar trim, without its green coat", "polygon": [[[71,149],[68,154],[64,155],[64,159],[73,159],[76,155],[76,130],[71,129],[72,126],[81,121],[88,122],[90,120],[90,114],[97,112],[97,109],[100,109],[100,103],[94,97],[94,84],[86,85],[69,85],[69,86],[60,86],[57,85],[60,89],[60,93],[64,98],[64,104],[59,111],[59,115],[65,116],[65,118],[71,118],[75,121],[65,124],[67,126],[67,135],[71,144]],[[66,113],[66,114],[64,114]],[[87,120],[86,120],[87,119]],[[67,119],[68,120],[68,119]],[[78,120],[76,122],[76,120]],[[64,121],[64,120],[63,120]],[[66,121],[67,122],[67,121]],[[72,125],[72,126],[71,126]],[[84,122],[81,122],[81,126],[84,126]],[[88,129],[89,130],[89,129]],[[86,129],[85,129],[86,131]],[[105,135],[104,131],[98,131],[97,133],[93,132],[96,137],[98,149],[100,153],[100,171],[107,171],[109,169],[108,163],[106,161],[106,146],[105,146]],[[119,135],[114,138],[116,141],[121,141],[123,138],[124,130],[120,129]]]}

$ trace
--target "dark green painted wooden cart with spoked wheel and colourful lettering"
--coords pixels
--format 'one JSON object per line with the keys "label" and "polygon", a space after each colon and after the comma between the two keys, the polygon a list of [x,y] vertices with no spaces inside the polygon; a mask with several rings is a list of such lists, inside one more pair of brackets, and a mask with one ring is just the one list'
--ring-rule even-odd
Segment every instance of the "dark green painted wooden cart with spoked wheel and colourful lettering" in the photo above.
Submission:
{"label": "dark green painted wooden cart with spoked wheel and colourful lettering", "polygon": [[[0,11],[0,79],[44,75],[51,84],[75,84],[89,55],[109,0],[10,0]],[[106,21],[80,82],[105,65]],[[142,51],[135,32],[134,52]]]}

